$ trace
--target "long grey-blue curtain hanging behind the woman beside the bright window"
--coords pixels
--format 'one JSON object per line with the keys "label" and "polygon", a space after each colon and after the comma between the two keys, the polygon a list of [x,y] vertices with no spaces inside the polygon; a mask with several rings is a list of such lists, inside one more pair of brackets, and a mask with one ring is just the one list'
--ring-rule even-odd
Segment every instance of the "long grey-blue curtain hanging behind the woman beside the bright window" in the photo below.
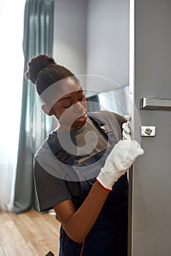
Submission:
{"label": "long grey-blue curtain hanging behind the woman beside the bright window", "polygon": [[[24,12],[23,54],[24,70],[32,56],[53,54],[54,0],[27,0]],[[38,127],[38,129],[37,129]],[[20,119],[18,165],[15,181],[13,212],[16,214],[37,209],[33,178],[33,157],[47,136],[50,119],[46,118],[37,103],[35,86],[23,78],[23,97]]]}

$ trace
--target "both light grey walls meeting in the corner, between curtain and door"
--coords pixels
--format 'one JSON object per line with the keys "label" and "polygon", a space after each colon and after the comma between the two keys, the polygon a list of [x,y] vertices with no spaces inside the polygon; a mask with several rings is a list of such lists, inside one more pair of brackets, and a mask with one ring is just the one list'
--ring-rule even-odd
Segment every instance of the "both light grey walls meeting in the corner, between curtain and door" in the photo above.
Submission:
{"label": "both light grey walls meeting in the corner, between curtain and door", "polygon": [[[129,0],[56,0],[53,56],[75,75],[128,84]],[[93,85],[113,89],[102,79],[93,79],[87,89]]]}

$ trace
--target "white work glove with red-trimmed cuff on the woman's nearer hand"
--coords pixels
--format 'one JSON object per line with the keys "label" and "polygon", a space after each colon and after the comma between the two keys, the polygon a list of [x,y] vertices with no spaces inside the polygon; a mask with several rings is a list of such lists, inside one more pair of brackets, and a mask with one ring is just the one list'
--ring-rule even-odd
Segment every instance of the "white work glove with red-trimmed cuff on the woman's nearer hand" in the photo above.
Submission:
{"label": "white work glove with red-trimmed cuff on the woman's nearer hand", "polygon": [[144,151],[137,140],[120,140],[108,155],[96,180],[104,189],[112,190],[115,181],[118,181],[142,154]]}

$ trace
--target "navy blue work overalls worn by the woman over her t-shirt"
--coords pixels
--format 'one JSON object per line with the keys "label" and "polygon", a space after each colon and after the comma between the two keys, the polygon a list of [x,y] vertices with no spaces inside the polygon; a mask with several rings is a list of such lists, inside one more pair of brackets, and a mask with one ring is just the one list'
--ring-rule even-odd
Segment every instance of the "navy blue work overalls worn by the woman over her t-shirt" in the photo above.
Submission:
{"label": "navy blue work overalls worn by the woman over her t-shirt", "polygon": [[[90,115],[88,115],[90,116]],[[104,127],[104,123],[94,116],[90,116],[98,127]],[[101,129],[101,128],[100,128]],[[105,133],[106,135],[106,133]],[[104,152],[96,154],[94,157],[87,159],[84,162],[77,163],[77,160],[61,152],[61,148],[50,146],[53,154],[57,159],[60,159],[61,164],[67,171],[76,171],[79,173],[80,167],[85,167],[79,182],[66,181],[69,191],[73,196],[75,208],[79,208],[86,199],[88,192],[96,181],[96,176],[99,174],[101,167],[104,166],[105,159],[110,153],[116,140],[113,132],[107,135],[110,140],[110,147]],[[62,153],[62,154],[61,154]],[[61,157],[59,157],[62,155]],[[95,178],[89,178],[88,173],[94,172]],[[96,176],[95,176],[96,175]],[[74,186],[80,187],[80,197],[75,200]],[[72,195],[73,194],[73,195]],[[82,244],[72,241],[66,235],[63,227],[60,230],[60,252],[59,256],[126,256],[127,255],[127,222],[128,222],[128,181],[126,174],[121,176],[113,186],[113,190],[109,193],[107,200],[104,203],[99,217],[96,219],[94,226],[91,228],[88,236]]]}

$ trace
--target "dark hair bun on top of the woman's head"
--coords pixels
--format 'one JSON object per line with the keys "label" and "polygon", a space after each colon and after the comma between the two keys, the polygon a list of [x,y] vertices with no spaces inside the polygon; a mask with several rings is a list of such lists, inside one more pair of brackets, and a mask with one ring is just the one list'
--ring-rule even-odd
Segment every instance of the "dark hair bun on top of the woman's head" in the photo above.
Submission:
{"label": "dark hair bun on top of the woman's head", "polygon": [[52,57],[44,54],[34,56],[27,64],[28,70],[25,73],[25,77],[27,80],[29,79],[35,84],[39,72],[42,71],[42,69],[54,64],[57,65]]}

